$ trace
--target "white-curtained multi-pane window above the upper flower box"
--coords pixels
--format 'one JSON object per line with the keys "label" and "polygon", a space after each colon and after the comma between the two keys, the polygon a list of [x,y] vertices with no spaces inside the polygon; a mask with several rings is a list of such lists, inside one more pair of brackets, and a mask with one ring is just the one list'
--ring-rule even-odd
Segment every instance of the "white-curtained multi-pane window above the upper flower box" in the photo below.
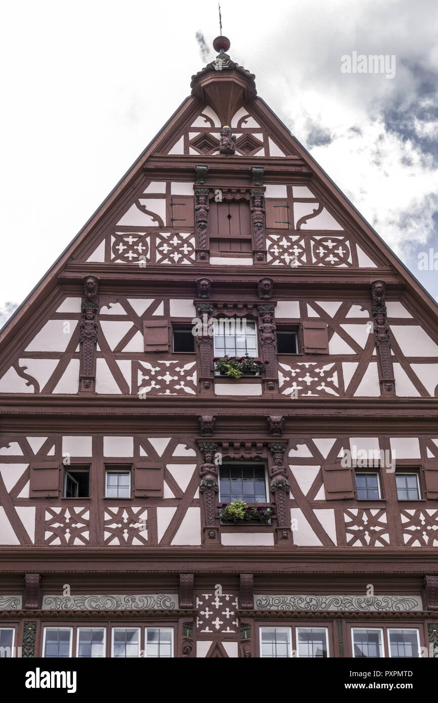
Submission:
{"label": "white-curtained multi-pane window above the upper flower box", "polygon": [[254,320],[245,318],[214,320],[214,356],[257,356],[257,353]]}

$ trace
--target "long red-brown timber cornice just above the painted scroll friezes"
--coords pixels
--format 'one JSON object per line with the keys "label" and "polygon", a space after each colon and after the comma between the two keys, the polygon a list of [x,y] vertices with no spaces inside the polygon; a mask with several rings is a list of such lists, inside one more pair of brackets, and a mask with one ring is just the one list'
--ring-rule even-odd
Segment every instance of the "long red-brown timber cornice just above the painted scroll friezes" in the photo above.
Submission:
{"label": "long red-brown timber cornice just above the painted scroll friezes", "polygon": [[[435,548],[2,547],[2,574],[438,574]],[[273,579],[275,583],[275,579]]]}

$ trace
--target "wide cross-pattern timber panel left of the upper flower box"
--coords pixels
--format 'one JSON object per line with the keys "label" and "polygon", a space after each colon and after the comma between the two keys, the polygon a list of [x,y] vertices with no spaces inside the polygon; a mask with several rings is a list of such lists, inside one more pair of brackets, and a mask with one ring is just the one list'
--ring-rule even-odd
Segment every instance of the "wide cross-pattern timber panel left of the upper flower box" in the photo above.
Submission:
{"label": "wide cross-pattern timber panel left of the upper flower box", "polygon": [[[133,362],[136,363],[136,362]],[[196,361],[139,361],[137,393],[150,395],[195,395]]]}

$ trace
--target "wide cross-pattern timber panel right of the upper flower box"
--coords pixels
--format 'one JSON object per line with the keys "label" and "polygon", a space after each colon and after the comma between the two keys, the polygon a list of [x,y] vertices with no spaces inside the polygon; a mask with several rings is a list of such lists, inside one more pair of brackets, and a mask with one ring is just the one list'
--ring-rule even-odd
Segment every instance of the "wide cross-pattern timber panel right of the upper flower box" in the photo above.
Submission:
{"label": "wide cross-pattern timber panel right of the upper flower box", "polygon": [[296,363],[278,363],[283,371],[278,369],[278,386],[283,395],[297,392],[301,396],[339,396],[338,373],[339,364],[336,362],[321,364],[317,361]]}

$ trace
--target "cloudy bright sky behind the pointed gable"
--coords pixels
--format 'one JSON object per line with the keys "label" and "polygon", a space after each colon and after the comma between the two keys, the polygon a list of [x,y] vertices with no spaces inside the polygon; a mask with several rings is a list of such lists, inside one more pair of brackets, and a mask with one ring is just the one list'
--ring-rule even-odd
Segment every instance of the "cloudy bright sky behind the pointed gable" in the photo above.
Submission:
{"label": "cloudy bright sky behind the pointed gable", "polygon": [[[259,96],[438,299],[436,0],[221,8]],[[6,321],[186,98],[219,26],[215,0],[22,0],[2,19]],[[395,76],[342,72],[354,51],[394,56]],[[418,268],[430,249],[437,271]]]}

